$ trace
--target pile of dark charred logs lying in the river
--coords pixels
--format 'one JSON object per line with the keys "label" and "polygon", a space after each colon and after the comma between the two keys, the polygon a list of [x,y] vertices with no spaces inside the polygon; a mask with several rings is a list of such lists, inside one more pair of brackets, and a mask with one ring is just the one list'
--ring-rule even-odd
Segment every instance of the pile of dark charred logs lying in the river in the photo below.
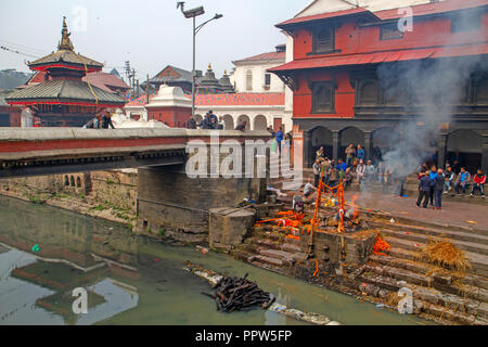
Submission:
{"label": "pile of dark charred logs lying in the river", "polygon": [[214,286],[214,294],[202,293],[215,299],[217,310],[223,312],[241,311],[255,306],[267,309],[273,301],[273,295],[261,291],[256,283],[244,278],[222,279]]}

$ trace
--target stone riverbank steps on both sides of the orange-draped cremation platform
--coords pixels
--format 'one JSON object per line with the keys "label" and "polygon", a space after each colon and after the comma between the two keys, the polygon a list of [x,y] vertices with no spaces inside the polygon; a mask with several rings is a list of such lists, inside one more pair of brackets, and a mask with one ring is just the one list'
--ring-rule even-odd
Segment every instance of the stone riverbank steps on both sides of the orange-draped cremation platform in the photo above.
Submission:
{"label": "stone riverbank steps on both sides of the orange-draped cremation platform", "polygon": [[[285,207],[291,206],[285,204]],[[370,227],[381,231],[391,249],[386,256],[370,255],[364,265],[347,265],[351,291],[367,292],[373,300],[387,303],[388,297],[407,287],[413,294],[414,313],[444,324],[488,325],[486,231],[412,220],[391,223],[386,217],[377,218],[374,213],[364,214],[363,218]],[[419,257],[419,250],[429,240],[445,237],[464,250],[470,260],[472,269],[461,278]],[[287,269],[306,259],[299,241],[283,237],[272,228],[254,230],[233,254],[248,264],[282,274],[287,274]]]}

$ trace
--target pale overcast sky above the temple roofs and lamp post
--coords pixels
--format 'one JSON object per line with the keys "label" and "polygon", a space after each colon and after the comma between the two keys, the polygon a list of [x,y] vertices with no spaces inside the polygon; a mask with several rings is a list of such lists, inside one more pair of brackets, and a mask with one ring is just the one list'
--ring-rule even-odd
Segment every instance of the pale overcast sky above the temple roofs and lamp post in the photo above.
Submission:
{"label": "pale overcast sky above the temple roofs and lamp post", "polygon": [[[274,27],[293,17],[310,0],[189,0],[185,10],[204,5],[197,24],[215,13],[223,17],[197,35],[196,68],[211,62],[219,77],[232,61],[274,50],[284,35]],[[14,0],[0,1],[0,46],[42,56],[57,49],[66,15],[75,51],[124,72],[129,60],[145,79],[171,64],[192,68],[192,21],[176,9],[176,0]],[[87,13],[84,21],[82,13]],[[86,22],[86,28],[84,28]],[[0,69],[27,72],[24,61],[36,57],[0,50]]]}

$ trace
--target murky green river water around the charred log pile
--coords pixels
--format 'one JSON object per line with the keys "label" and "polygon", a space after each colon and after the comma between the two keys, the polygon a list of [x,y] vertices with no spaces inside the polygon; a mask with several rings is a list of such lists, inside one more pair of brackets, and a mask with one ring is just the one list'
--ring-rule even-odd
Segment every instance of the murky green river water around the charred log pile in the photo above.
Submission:
{"label": "murky green river water around the charred log pile", "polygon": [[[261,309],[218,312],[201,294],[210,292],[207,282],[182,270],[187,260],[232,275],[248,272],[278,303],[343,324],[429,324],[224,255],[163,245],[119,224],[0,196],[0,324],[303,324]],[[72,310],[75,287],[89,291],[87,314]]]}

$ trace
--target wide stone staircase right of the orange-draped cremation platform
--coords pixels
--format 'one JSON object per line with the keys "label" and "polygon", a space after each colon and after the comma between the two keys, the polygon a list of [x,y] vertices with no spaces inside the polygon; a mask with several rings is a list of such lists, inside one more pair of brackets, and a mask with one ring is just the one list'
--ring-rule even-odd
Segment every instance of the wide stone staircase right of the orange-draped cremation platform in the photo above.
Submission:
{"label": "wide stone staircase right of the orange-draped cremation platform", "polygon": [[[372,223],[372,222],[370,222]],[[413,292],[418,312],[446,323],[488,324],[488,236],[484,231],[449,230],[395,223],[381,228],[391,246],[388,256],[371,255],[358,280],[368,285],[397,292],[408,287]],[[444,236],[465,252],[472,265],[463,278],[436,270],[419,258],[419,249],[428,240]]]}

